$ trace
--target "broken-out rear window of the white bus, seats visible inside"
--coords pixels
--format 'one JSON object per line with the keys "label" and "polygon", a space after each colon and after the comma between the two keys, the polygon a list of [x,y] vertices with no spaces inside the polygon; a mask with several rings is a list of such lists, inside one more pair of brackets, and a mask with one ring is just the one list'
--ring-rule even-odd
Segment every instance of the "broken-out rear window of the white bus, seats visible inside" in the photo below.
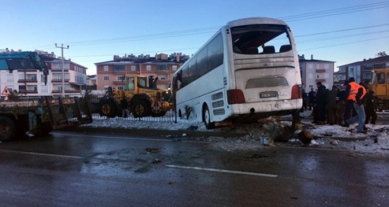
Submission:
{"label": "broken-out rear window of the white bus, seats visible inside", "polygon": [[[231,28],[233,52],[240,54],[281,53],[292,49],[285,25],[254,24]],[[277,50],[276,50],[277,48]]]}

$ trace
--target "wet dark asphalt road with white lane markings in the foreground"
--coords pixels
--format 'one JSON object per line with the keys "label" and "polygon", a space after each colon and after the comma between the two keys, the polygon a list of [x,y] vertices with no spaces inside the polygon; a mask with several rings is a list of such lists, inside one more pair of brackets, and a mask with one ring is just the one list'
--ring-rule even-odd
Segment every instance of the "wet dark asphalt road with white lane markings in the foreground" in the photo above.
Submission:
{"label": "wet dark asphalt road with white lane markings in the foreground", "polygon": [[56,131],[0,143],[1,206],[389,206],[389,159]]}

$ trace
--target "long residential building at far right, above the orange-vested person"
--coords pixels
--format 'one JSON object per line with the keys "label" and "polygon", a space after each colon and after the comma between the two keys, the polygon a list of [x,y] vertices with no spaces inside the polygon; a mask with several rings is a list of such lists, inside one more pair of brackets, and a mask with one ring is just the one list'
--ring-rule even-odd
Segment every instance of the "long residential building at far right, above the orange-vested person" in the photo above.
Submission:
{"label": "long residential building at far right, above the orange-vested person", "polygon": [[389,56],[383,55],[368,60],[364,59],[363,61],[341,65],[338,68],[338,74],[341,76],[340,83],[344,83],[350,77],[355,78],[355,81],[360,83],[363,80],[372,78],[372,69],[389,68]]}

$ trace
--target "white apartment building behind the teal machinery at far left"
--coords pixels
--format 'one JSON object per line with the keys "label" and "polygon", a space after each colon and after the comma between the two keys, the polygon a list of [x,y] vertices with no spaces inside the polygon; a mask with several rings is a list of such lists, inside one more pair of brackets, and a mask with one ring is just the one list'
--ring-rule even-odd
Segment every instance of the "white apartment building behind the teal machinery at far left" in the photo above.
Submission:
{"label": "white apartment building behind the teal machinery at far left", "polygon": [[[20,51],[20,50],[19,50]],[[80,96],[81,90],[86,86],[86,67],[78,65],[69,60],[64,60],[64,72],[62,70],[62,60],[56,58],[54,53],[35,50],[40,58],[46,63],[49,69],[47,84],[44,84],[43,72],[38,69],[15,70],[0,72],[0,89],[17,90],[24,96],[62,96],[63,80],[65,85],[65,97]],[[3,51],[13,52],[10,51]]]}

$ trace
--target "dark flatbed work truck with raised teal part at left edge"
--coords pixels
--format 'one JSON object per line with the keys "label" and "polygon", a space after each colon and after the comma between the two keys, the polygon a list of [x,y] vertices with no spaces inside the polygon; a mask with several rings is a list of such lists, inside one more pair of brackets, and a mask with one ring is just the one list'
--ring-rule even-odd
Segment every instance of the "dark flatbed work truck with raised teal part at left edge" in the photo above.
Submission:
{"label": "dark flatbed work truck with raised teal part at left edge", "polygon": [[[45,76],[49,74],[36,52],[0,53],[0,70],[15,69],[39,69]],[[92,123],[86,97],[23,97],[6,87],[3,93],[7,99],[0,100],[0,141],[15,140],[27,132],[44,135],[53,129]]]}

